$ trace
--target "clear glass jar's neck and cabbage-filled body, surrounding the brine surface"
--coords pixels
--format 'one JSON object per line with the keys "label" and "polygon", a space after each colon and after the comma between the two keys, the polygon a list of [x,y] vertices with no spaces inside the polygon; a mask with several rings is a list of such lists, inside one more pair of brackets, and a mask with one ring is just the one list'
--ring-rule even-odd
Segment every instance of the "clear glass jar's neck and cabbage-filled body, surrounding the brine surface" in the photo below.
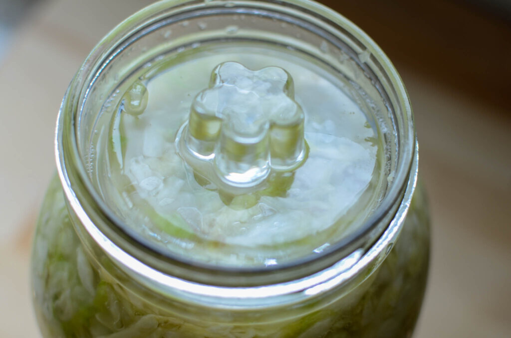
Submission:
{"label": "clear glass jar's neck and cabbage-filled body, surrounding the brine surface", "polygon": [[[280,46],[328,67],[378,130],[377,207],[314,256],[262,268],[191,261],[134,232],[101,197],[98,125],[118,88],[161,60],[180,62],[218,43]],[[158,2],[95,47],[64,96],[59,175],[44,199],[32,255],[43,336],[408,337],[429,258],[417,151],[396,69],[338,13],[307,0]]]}

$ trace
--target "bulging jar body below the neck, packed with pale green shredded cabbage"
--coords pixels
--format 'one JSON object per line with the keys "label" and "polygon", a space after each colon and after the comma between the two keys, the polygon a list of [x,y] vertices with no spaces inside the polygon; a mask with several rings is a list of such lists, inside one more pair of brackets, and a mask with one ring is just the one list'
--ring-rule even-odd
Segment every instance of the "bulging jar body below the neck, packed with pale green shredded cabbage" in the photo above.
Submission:
{"label": "bulging jar body below the neck, packed with pale green shredded cabbage", "polygon": [[398,338],[411,335],[424,296],[429,219],[419,185],[400,237],[379,268],[368,267],[348,285],[294,309],[275,304],[256,313],[168,299],[134,283],[94,249],[79,239],[55,177],[32,257],[34,307],[45,338]]}

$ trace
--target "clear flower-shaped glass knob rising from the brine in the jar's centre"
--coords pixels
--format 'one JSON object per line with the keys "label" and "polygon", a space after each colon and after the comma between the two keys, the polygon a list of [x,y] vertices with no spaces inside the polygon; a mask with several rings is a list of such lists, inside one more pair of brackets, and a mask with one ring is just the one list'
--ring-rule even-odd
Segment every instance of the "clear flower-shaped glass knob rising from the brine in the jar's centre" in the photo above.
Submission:
{"label": "clear flower-shaped glass knob rising from the brine in the jar's centre", "polygon": [[218,65],[179,137],[184,159],[217,185],[252,187],[306,158],[304,112],[291,75],[279,67]]}

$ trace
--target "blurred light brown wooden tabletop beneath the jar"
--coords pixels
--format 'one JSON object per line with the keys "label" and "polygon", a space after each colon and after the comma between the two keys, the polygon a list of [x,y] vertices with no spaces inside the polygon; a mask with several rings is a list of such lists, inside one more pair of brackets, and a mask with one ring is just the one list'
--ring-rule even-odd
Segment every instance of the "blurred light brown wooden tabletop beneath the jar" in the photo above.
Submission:
{"label": "blurred light brown wooden tabletop beneath the jar", "polygon": [[[42,195],[55,171],[53,134],[62,95],[92,46],[149,3],[48,0],[0,61],[2,338],[40,337],[30,300],[29,255]],[[493,57],[509,67],[509,59]],[[414,107],[433,220],[430,279],[415,337],[507,338],[511,112],[425,76],[410,63],[394,62]]]}

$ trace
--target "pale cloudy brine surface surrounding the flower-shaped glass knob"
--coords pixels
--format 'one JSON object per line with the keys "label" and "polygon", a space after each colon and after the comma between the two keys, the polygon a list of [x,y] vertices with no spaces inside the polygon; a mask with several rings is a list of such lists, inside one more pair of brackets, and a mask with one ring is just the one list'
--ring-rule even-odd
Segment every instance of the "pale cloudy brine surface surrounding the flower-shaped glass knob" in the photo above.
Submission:
{"label": "pale cloudy brine surface surrounding the flower-shaped glass knob", "polygon": [[[193,99],[226,61],[285,69],[305,113],[304,163],[242,193],[197,175],[176,147]],[[160,249],[219,265],[281,264],[320,253],[376,207],[377,130],[346,94],[347,82],[319,62],[285,48],[226,44],[163,58],[129,81],[145,85],[147,107],[141,114],[129,114],[122,102],[105,109],[112,118],[97,147],[100,189],[126,226]]]}

